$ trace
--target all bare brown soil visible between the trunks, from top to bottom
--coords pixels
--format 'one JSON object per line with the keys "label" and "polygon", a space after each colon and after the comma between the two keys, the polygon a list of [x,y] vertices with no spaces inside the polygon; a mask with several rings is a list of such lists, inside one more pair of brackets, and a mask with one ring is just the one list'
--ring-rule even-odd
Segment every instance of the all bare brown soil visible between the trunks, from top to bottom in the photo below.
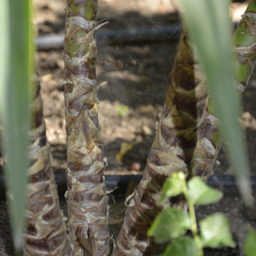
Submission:
{"label": "all bare brown soil visible between the trunks, from top to bottom", "polygon": [[[98,109],[99,120],[102,124],[104,156],[108,158],[107,187],[111,190],[116,185],[119,186],[113,191],[113,196],[109,197],[110,234],[116,237],[125,216],[125,196],[131,194],[136,187],[146,165],[151,143],[154,140],[155,123],[165,101],[168,75],[172,70],[177,51],[177,38],[174,34],[163,33],[161,35],[163,40],[155,40],[153,37],[145,42],[145,40],[131,37],[125,42],[119,40],[120,31],[131,32],[147,28],[153,32],[153,35],[154,33],[158,35],[160,27],[181,25],[175,13],[175,6],[169,4],[168,1],[145,0],[134,3],[131,1],[129,3],[131,7],[125,1],[99,2],[101,11],[98,20],[109,21],[109,24],[103,26],[99,33],[102,32],[104,35],[112,32],[114,34],[114,43],[108,38],[98,39],[99,60],[120,60],[123,64],[120,70],[115,70],[112,65],[99,65],[96,68],[97,84],[108,81],[108,84],[98,90],[100,100]],[[65,3],[65,0],[38,0],[39,35],[64,32]],[[63,88],[55,83],[55,78],[64,77],[63,67],[61,49],[38,51],[38,73],[42,81],[47,138],[53,155],[53,167],[61,197],[61,207],[67,214],[67,204],[63,197],[67,188],[64,93]],[[256,174],[255,95],[256,76],[253,75],[243,95],[244,109],[241,122],[247,132],[250,165],[254,175]],[[123,159],[116,160],[116,154],[119,153],[122,143],[131,145],[131,150],[124,155]],[[196,214],[200,220],[208,214],[224,212],[230,219],[236,247],[205,249],[204,255],[242,255],[242,246],[247,234],[246,225],[250,223],[256,228],[256,222],[247,217],[236,183],[230,176],[232,170],[224,149],[220,152],[218,160],[221,165],[215,170],[217,176],[211,177],[209,184],[224,191],[224,198],[217,204],[197,207]],[[253,186],[255,191],[254,176]],[[0,255],[12,256],[14,251],[4,201],[3,178],[0,179],[0,195]],[[113,198],[116,203],[113,202]]]}

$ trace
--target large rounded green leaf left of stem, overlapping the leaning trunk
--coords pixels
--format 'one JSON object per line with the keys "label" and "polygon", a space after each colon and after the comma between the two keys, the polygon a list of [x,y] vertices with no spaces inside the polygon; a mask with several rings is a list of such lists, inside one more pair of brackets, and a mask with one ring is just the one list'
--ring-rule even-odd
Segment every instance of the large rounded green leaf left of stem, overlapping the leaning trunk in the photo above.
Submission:
{"label": "large rounded green leaf left of stem, overlapping the leaning trunk", "polygon": [[147,235],[154,236],[156,241],[164,242],[170,238],[182,236],[190,227],[188,212],[177,208],[167,208],[154,219]]}

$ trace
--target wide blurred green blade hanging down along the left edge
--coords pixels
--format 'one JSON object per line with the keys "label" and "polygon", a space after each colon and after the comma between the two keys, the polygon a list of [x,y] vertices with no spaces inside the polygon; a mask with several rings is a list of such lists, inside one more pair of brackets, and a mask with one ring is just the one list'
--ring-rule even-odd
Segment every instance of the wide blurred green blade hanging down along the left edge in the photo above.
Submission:
{"label": "wide blurred green blade hanging down along the left edge", "polygon": [[[9,19],[4,15],[9,16]],[[8,165],[5,177],[9,193],[9,209],[15,248],[22,247],[27,145],[30,126],[30,84],[32,79],[32,27],[30,0],[1,1],[1,44],[7,44],[1,67],[8,69],[5,81],[1,80],[1,120],[3,122],[3,149]],[[5,16],[5,17],[7,17]],[[4,46],[4,45],[3,45]],[[8,50],[9,49],[9,50]],[[1,50],[2,47],[1,47]],[[1,70],[2,72],[3,70]]]}

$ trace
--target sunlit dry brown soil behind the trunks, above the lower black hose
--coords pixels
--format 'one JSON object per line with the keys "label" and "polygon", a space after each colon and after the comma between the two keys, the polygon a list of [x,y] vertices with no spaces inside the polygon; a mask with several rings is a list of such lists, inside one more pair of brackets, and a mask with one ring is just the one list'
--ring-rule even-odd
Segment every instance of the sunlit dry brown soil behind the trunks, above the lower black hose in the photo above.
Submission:
{"label": "sunlit dry brown soil behind the trunks, above the lower black hose", "polygon": [[[65,0],[38,0],[36,23],[38,33],[64,31]],[[234,3],[233,18],[239,19],[245,4]],[[153,27],[157,32],[160,26],[179,24],[175,14],[175,1],[141,0],[99,1],[98,20],[108,20],[109,24],[101,29],[104,32]],[[166,35],[169,36],[169,35]],[[172,38],[172,36],[171,36]],[[168,74],[172,70],[177,50],[177,41],[172,44],[106,44],[98,42],[99,58],[122,61],[123,69],[114,70],[111,66],[96,68],[97,83],[108,81],[98,91],[100,99],[99,119],[102,124],[102,143],[108,158],[106,174],[136,174],[143,171],[150,143],[153,141],[157,115],[165,100],[168,86]],[[44,98],[44,117],[47,125],[47,137],[52,146],[54,167],[60,169],[66,163],[64,131],[63,91],[55,84],[56,77],[63,77],[61,50],[38,52],[38,71],[42,81]],[[256,80],[251,82],[244,94],[244,113],[242,121],[247,131],[247,144],[252,172],[256,172],[255,129],[256,108],[253,96],[256,92]],[[119,116],[118,108],[128,106],[125,116]],[[121,143],[132,143],[133,149],[125,155],[122,162],[115,160]],[[217,172],[232,173],[224,150],[219,155],[221,166]],[[61,168],[62,169],[62,168]]]}

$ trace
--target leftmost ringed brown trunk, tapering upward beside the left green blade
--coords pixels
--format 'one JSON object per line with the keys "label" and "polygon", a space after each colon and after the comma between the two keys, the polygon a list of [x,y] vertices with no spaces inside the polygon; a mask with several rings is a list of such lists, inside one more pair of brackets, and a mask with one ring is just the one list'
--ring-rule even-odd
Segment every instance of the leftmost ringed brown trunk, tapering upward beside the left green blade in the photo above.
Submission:
{"label": "leftmost ringed brown trunk, tapering upward beside the left green blade", "polygon": [[73,255],[59,204],[43,119],[40,85],[32,103],[32,141],[28,148],[32,166],[28,170],[24,255]]}

